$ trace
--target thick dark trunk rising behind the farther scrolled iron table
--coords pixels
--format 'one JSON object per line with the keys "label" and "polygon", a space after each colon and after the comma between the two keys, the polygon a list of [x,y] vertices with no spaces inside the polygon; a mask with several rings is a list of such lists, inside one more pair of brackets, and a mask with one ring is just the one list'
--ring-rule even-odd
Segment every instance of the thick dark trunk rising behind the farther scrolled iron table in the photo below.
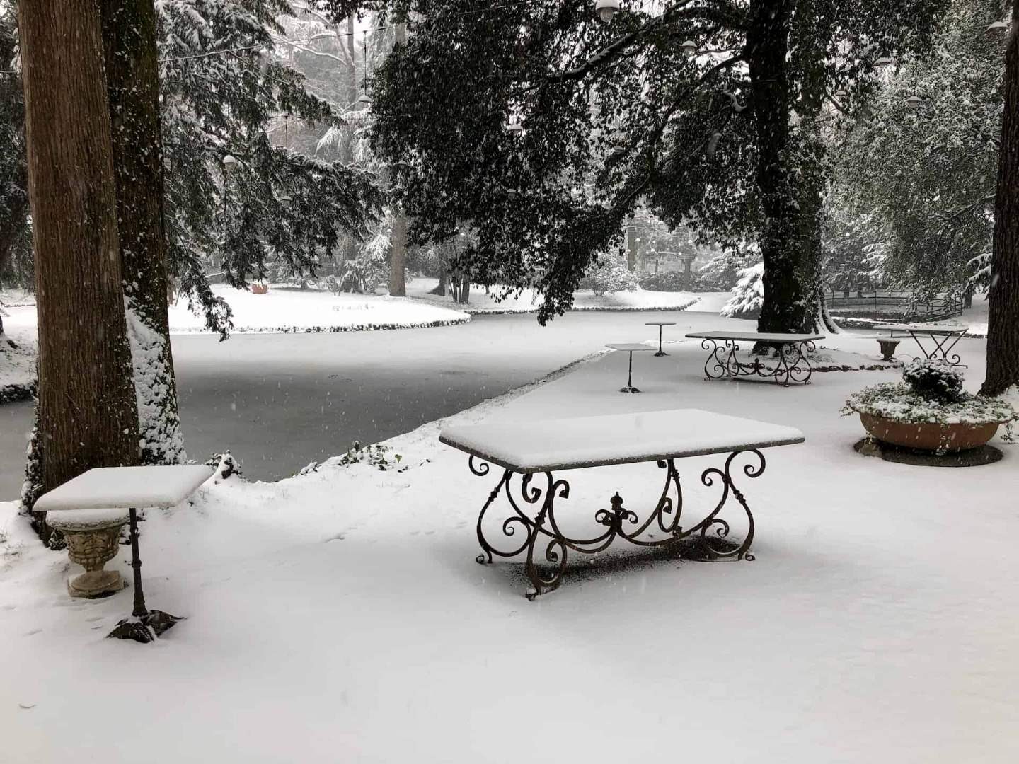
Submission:
{"label": "thick dark trunk rising behind the farther scrolled iron table", "polygon": [[787,56],[791,0],[753,0],[747,34],[751,103],[757,143],[756,179],[765,221],[762,332],[802,332],[811,327],[810,281],[805,280],[798,199],[790,160],[790,96]]}

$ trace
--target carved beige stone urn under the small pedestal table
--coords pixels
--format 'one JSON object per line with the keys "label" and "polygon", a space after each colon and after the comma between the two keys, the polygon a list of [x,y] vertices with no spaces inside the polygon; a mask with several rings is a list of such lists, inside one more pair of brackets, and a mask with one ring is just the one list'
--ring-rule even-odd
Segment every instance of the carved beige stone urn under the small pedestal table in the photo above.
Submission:
{"label": "carved beige stone urn under the small pedestal table", "polygon": [[67,581],[71,597],[107,597],[124,588],[118,570],[103,566],[117,555],[120,529],[127,523],[126,509],[57,509],[46,513],[46,522],[67,540],[67,556],[85,572]]}

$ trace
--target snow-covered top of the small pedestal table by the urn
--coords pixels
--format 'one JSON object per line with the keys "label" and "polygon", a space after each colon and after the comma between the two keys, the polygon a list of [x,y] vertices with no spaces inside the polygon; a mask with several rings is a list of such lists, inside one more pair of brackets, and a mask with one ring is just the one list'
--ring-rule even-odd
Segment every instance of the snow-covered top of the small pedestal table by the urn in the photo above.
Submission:
{"label": "snow-covered top of the small pedestal table by the urn", "polygon": [[214,472],[206,465],[99,467],[42,496],[33,511],[175,506]]}

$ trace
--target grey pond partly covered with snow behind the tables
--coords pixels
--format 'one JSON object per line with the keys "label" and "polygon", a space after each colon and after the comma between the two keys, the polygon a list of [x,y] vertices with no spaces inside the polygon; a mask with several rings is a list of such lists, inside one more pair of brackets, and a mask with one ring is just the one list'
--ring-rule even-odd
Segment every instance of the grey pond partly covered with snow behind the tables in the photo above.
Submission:
{"label": "grey pond partly covered with snow behind the tables", "polygon": [[[685,331],[746,326],[700,312],[578,312],[467,325],[337,334],[172,337],[189,455],[230,449],[246,477],[279,480],[310,461],[372,443],[501,395],[603,348]],[[635,362],[636,363],[636,362]],[[32,403],[0,405],[0,500],[21,482]]]}

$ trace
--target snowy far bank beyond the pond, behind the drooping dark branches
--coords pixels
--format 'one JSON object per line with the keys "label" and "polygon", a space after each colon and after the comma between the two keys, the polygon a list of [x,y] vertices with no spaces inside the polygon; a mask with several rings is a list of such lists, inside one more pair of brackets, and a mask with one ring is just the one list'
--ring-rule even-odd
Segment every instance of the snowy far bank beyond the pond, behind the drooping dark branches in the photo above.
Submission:
{"label": "snowy far bank beyond the pond, behind the drooping dark branches", "polygon": [[[434,278],[415,278],[407,283],[407,295],[428,305],[455,308],[465,313],[537,313],[541,305],[541,294],[533,289],[525,289],[520,294],[512,294],[497,299],[494,293],[472,287],[469,305],[452,302],[452,297],[432,294]],[[590,289],[581,289],[574,294],[572,311],[685,311],[694,307],[699,294],[689,291],[615,291],[598,296]]]}

